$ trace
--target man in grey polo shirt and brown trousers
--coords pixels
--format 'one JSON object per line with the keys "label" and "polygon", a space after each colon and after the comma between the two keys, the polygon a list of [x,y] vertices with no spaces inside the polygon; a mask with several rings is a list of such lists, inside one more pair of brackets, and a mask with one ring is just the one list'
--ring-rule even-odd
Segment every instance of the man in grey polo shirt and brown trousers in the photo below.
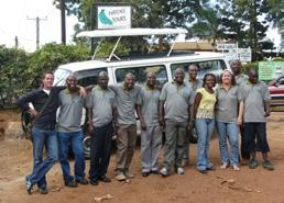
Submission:
{"label": "man in grey polo shirt and brown trousers", "polygon": [[110,86],[111,90],[116,92],[118,109],[116,179],[119,181],[134,178],[134,174],[129,171],[129,167],[136,143],[135,105],[138,104],[141,89],[134,83],[134,75],[127,74],[122,84]]}

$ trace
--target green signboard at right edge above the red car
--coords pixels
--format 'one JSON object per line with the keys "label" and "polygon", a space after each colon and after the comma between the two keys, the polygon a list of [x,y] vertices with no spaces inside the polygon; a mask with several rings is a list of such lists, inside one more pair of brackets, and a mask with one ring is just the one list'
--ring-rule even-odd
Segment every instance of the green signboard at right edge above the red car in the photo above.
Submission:
{"label": "green signboard at right edge above the red car", "polygon": [[284,61],[260,61],[259,79],[273,80],[284,75]]}

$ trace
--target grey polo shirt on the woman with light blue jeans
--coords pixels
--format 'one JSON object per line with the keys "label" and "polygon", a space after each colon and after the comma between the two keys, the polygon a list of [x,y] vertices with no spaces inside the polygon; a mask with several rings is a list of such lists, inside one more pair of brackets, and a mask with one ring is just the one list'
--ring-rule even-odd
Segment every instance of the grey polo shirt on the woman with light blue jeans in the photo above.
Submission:
{"label": "grey polo shirt on the woman with light blue jeans", "polygon": [[222,86],[216,89],[216,120],[225,123],[236,123],[238,119],[239,102],[241,102],[241,92],[238,86],[232,86],[227,91]]}

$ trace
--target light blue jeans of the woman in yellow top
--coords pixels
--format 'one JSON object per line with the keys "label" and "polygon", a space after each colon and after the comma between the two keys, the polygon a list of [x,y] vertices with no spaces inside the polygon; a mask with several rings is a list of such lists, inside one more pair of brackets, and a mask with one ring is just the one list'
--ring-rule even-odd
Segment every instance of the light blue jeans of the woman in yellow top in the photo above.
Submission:
{"label": "light blue jeans of the woman in yellow top", "polygon": [[195,128],[198,136],[197,139],[197,169],[207,170],[212,167],[209,160],[209,143],[215,126],[214,119],[196,119]]}

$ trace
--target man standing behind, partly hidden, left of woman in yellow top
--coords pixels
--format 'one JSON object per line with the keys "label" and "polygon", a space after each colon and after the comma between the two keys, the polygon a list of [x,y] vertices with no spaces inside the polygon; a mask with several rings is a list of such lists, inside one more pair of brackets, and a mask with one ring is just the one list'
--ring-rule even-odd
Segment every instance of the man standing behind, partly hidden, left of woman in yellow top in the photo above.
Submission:
{"label": "man standing behind, partly hidden, left of woman in yellow top", "polygon": [[[197,89],[203,88],[204,82],[201,79],[197,78],[198,67],[195,64],[189,65],[187,70],[188,70],[189,79],[185,81],[185,84],[189,86],[190,89],[193,90],[193,93],[195,94]],[[190,139],[190,136],[194,136],[193,133],[194,133],[194,129],[190,129],[188,131],[186,136],[183,166],[189,165],[189,139]]]}

